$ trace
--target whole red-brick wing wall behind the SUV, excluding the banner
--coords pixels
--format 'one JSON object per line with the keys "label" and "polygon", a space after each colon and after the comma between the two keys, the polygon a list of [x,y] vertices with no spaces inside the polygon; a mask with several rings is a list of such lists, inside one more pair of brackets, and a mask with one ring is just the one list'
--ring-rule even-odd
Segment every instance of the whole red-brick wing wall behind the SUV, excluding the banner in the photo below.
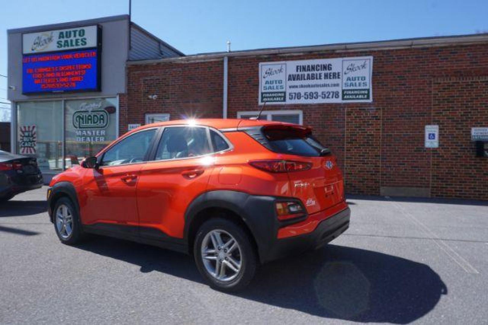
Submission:
{"label": "whole red-brick wing wall behind the SUV, excluding the banner", "polygon": [[[348,193],[488,199],[488,145],[471,140],[488,127],[488,35],[129,61],[121,134],[153,117],[255,115],[260,63],[338,57],[372,57],[370,102],[266,105],[264,117],[313,127]],[[426,125],[438,148],[426,148]]]}

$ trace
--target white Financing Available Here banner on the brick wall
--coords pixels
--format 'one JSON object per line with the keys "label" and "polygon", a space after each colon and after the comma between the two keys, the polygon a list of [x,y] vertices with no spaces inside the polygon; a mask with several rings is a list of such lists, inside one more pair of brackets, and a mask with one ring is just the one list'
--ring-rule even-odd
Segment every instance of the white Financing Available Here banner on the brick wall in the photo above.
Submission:
{"label": "white Financing Available Here banner on the brick wall", "polygon": [[372,102],[373,57],[261,62],[259,104]]}

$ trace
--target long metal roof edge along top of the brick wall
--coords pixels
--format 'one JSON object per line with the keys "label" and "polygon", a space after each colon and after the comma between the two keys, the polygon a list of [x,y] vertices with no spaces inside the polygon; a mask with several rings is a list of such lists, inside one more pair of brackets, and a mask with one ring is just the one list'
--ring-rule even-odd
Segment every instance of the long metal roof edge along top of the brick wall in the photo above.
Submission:
{"label": "long metal roof edge along top of the brick wall", "polygon": [[141,64],[155,64],[171,61],[189,62],[207,59],[218,59],[222,57],[245,57],[245,56],[264,56],[272,54],[296,54],[319,51],[367,51],[367,50],[390,50],[413,47],[430,47],[430,46],[447,46],[447,45],[462,45],[472,43],[488,43],[488,33],[472,34],[472,35],[455,35],[442,37],[426,37],[426,38],[406,38],[394,40],[380,40],[370,42],[354,42],[354,43],[337,43],[325,45],[310,45],[297,47],[278,47],[278,48],[264,48],[254,50],[242,50],[232,52],[215,52],[215,53],[199,53],[187,55],[185,57],[172,57],[163,59],[150,59],[127,61],[128,65]]}

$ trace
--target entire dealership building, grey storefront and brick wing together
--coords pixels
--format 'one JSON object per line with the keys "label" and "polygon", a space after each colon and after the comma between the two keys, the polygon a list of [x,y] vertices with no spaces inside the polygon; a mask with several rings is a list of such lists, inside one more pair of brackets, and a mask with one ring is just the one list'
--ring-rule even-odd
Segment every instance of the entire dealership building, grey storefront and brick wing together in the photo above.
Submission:
{"label": "entire dealership building, grey storefront and brick wing together", "polygon": [[190,56],[127,15],[7,35],[11,150],[46,182],[138,125],[265,101],[314,128],[348,193],[488,199],[488,34]]}

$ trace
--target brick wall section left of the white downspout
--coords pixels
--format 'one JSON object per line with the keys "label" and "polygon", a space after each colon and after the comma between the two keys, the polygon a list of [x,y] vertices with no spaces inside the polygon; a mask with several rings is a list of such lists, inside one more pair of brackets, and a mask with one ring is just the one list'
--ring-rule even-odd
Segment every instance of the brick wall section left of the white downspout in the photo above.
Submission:
{"label": "brick wall section left of the white downspout", "polygon": [[[170,119],[222,117],[222,60],[168,62],[127,67],[127,94],[120,100],[120,130],[145,122],[145,114],[169,113]],[[156,95],[156,99],[149,96]]]}

